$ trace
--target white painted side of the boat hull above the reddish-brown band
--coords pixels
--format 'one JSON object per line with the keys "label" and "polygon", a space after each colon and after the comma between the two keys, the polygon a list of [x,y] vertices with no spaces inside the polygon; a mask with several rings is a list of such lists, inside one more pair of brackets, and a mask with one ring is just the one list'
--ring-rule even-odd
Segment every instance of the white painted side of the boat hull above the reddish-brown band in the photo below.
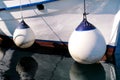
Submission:
{"label": "white painted side of the boat hull above the reddish-brown band", "polygon": [[[44,0],[31,0],[31,2],[30,0],[24,0],[21,4],[40,1]],[[18,0],[5,0],[1,1],[0,4],[2,4],[1,7],[4,8],[20,5],[20,2]],[[88,21],[102,32],[106,44],[111,44],[110,36],[114,17],[119,11],[119,0],[86,0],[86,6],[87,12],[90,13],[88,15]],[[68,42],[71,33],[82,21],[83,0],[60,0],[46,3],[44,7],[45,9],[41,11],[39,11],[36,6],[23,8],[22,11],[20,11],[20,9],[1,11],[0,34],[12,37],[18,23],[21,21],[22,13],[25,22],[33,30],[37,40],[60,41],[61,39],[64,42]],[[57,36],[54,33],[56,33]],[[114,36],[117,36],[117,34]]]}

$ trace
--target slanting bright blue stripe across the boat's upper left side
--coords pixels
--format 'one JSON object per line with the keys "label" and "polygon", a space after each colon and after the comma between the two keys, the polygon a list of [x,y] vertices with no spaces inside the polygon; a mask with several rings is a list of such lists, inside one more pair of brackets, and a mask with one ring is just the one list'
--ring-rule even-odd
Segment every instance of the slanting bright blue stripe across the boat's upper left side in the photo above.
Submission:
{"label": "slanting bright blue stripe across the boat's upper left side", "polygon": [[23,8],[31,7],[31,6],[36,6],[36,5],[39,5],[39,4],[50,3],[50,2],[54,2],[54,1],[59,1],[59,0],[44,0],[44,1],[34,2],[34,3],[30,3],[30,4],[24,4],[24,5],[12,6],[12,7],[0,8],[0,11],[17,9],[17,8],[20,8],[20,7],[23,7]]}

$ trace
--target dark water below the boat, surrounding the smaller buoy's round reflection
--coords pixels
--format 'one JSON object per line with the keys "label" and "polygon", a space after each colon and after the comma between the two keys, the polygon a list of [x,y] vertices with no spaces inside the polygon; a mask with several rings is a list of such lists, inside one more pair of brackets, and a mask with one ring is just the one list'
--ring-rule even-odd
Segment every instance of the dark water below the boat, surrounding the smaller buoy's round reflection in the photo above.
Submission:
{"label": "dark water below the boat, surrounding the smaller buoy's round reflection", "polygon": [[[35,80],[115,80],[114,66],[108,63],[83,65],[74,62],[71,57],[48,55],[53,51],[32,52],[20,49],[1,48],[5,56],[1,60],[1,73],[7,80],[19,80],[16,65],[23,57],[32,57],[38,63]],[[58,53],[55,51],[54,53]],[[26,63],[28,64],[28,63]],[[1,79],[2,80],[2,79]]]}

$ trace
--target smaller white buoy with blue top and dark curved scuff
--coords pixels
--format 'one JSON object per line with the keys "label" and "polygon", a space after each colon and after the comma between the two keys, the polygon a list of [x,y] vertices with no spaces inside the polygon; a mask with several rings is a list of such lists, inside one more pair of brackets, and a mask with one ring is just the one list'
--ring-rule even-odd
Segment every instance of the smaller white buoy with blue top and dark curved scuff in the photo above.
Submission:
{"label": "smaller white buoy with blue top and dark curved scuff", "polygon": [[22,20],[13,33],[13,40],[20,48],[28,48],[35,41],[35,35],[30,27]]}

